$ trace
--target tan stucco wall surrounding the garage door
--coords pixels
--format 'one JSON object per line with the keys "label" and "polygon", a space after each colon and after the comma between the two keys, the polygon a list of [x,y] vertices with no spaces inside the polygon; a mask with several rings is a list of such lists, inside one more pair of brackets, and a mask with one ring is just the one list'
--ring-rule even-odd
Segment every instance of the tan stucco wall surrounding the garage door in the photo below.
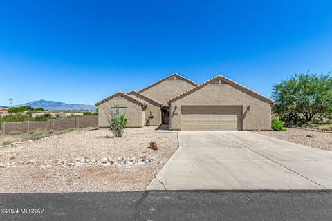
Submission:
{"label": "tan stucco wall surrounding the garage door", "polygon": [[[225,105],[243,106],[243,130],[270,130],[271,106],[270,104],[252,97],[230,84],[209,84],[194,93],[178,99],[171,104],[170,129],[181,129],[181,106],[190,105]],[[177,106],[178,114],[174,114]],[[250,106],[250,111],[247,111]]]}

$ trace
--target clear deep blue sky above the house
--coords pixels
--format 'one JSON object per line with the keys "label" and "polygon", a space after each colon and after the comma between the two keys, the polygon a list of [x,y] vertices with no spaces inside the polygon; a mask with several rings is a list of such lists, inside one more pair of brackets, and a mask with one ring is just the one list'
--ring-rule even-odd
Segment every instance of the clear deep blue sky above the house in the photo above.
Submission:
{"label": "clear deep blue sky above the house", "polygon": [[270,96],[332,70],[332,1],[1,1],[0,105],[94,104],[173,72]]}

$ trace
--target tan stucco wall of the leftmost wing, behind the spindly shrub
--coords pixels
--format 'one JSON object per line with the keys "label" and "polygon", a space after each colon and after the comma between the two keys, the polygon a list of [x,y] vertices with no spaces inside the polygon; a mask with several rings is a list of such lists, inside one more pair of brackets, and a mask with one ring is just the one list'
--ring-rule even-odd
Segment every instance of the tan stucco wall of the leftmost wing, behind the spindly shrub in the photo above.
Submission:
{"label": "tan stucco wall of the leftmost wing, behind the spindly shrub", "polygon": [[142,110],[142,107],[139,104],[133,103],[129,99],[125,99],[123,97],[114,97],[108,102],[100,104],[98,114],[99,127],[107,127],[107,115],[105,114],[105,111],[109,109],[107,108],[107,106],[109,106],[107,103],[112,104],[112,106],[127,106],[127,127],[141,127],[145,124],[145,122],[142,120],[145,117],[145,111]]}

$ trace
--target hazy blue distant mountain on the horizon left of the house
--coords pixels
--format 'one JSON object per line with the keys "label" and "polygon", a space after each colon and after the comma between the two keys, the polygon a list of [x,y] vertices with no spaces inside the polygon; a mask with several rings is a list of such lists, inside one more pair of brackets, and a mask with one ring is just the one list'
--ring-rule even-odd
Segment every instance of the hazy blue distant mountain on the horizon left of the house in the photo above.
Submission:
{"label": "hazy blue distant mountain on the horizon left of the house", "polygon": [[44,99],[16,106],[32,106],[33,108],[44,108],[47,111],[94,111],[96,108],[89,104],[66,104],[63,102],[46,101]]}

